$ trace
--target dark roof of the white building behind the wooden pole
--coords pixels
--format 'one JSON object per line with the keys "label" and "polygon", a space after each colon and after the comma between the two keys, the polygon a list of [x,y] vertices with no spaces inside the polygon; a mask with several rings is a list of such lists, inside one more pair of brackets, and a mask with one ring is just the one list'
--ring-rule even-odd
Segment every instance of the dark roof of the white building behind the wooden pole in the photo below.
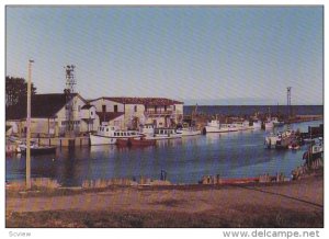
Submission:
{"label": "dark roof of the white building behind the wooden pole", "polygon": [[[78,93],[73,93],[72,95],[79,96]],[[63,109],[65,104],[66,104],[66,95],[64,93],[32,95],[31,117],[37,117],[37,118],[55,117],[57,112],[60,109]],[[10,110],[7,112],[7,114],[8,114],[7,118],[10,120],[26,118],[26,107],[19,109],[19,111],[16,109]]]}

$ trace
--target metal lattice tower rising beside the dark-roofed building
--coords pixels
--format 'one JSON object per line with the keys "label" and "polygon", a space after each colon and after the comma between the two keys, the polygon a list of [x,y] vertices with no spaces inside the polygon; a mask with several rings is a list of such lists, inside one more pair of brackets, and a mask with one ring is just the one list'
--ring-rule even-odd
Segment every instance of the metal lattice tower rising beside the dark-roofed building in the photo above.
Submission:
{"label": "metal lattice tower rising beside the dark-roofed building", "polygon": [[75,93],[75,84],[76,84],[76,79],[75,79],[75,68],[76,66],[73,65],[68,65],[65,67],[65,72],[66,72],[66,89],[64,90],[65,95],[66,95],[66,134],[69,136],[72,136],[75,133],[75,125],[73,125],[73,110],[75,110],[75,102],[72,101],[73,99],[73,93]]}

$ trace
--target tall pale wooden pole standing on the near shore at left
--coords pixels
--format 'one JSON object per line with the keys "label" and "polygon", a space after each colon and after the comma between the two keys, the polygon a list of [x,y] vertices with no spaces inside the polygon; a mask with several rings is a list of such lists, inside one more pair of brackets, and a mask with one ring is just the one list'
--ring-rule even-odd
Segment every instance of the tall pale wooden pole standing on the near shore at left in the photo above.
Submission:
{"label": "tall pale wooden pole standing on the near shore at left", "polygon": [[27,76],[27,116],[26,116],[26,190],[31,190],[31,78],[32,64],[34,60],[29,60]]}

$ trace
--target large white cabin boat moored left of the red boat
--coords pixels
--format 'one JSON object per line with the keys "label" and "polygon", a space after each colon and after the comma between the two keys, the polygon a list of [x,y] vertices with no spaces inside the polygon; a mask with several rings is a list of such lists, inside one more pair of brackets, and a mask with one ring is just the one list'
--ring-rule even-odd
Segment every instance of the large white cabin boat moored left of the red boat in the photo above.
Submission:
{"label": "large white cabin boat moored left of the red boat", "polygon": [[90,145],[114,145],[116,139],[139,138],[137,130],[122,130],[117,126],[102,125],[94,135],[90,135]]}

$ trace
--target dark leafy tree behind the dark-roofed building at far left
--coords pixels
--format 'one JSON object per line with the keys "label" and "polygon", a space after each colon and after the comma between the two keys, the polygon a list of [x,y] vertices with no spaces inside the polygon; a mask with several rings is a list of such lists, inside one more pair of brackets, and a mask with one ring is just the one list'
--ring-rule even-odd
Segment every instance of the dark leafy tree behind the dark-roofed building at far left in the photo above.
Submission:
{"label": "dark leafy tree behind the dark-roofed building at far left", "polygon": [[[31,94],[36,93],[36,88],[31,83]],[[5,77],[5,111],[10,116],[22,107],[26,107],[27,82],[23,78]]]}

